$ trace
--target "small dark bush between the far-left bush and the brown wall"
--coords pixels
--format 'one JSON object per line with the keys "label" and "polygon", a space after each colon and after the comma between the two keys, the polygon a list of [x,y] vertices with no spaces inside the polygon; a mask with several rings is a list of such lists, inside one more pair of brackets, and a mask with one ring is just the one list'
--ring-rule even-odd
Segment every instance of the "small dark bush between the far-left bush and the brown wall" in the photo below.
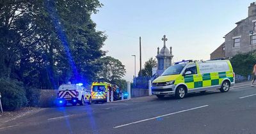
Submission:
{"label": "small dark bush between the far-left bush and the brown wall", "polygon": [[26,87],[26,98],[28,100],[29,107],[38,107],[40,99],[40,89]]}

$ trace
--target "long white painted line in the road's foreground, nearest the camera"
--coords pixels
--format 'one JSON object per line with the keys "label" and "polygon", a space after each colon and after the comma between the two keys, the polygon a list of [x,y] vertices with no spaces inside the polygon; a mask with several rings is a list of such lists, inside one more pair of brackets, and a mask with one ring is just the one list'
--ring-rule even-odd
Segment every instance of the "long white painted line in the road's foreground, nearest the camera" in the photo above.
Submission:
{"label": "long white painted line in the road's foreground, nearest the camera", "polygon": [[141,121],[136,121],[136,122],[133,122],[133,123],[122,124],[120,126],[115,126],[113,128],[120,128],[120,127],[123,127],[123,126],[128,126],[130,124],[141,123],[141,122],[144,122],[144,121],[149,121],[149,120],[152,120],[152,119],[157,119],[159,117],[165,117],[165,116],[168,116],[168,115],[179,114],[181,112],[187,112],[187,111],[190,111],[190,110],[195,110],[195,109],[198,109],[198,108],[203,108],[203,107],[208,107],[208,106],[209,105],[204,105],[204,106],[200,106],[200,107],[190,108],[190,109],[187,109],[187,110],[181,110],[179,112],[173,112],[173,113],[170,113],[170,114],[159,115],[159,116],[156,116],[156,117],[152,117],[152,118],[148,118],[148,119],[143,119]]}

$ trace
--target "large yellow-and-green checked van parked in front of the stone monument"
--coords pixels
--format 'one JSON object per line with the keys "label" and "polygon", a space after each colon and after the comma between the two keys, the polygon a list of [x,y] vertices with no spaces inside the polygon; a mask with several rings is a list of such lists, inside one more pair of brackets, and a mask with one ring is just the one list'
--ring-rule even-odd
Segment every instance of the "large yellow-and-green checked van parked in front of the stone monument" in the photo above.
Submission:
{"label": "large yellow-and-green checked van parked in front of the stone monument", "polygon": [[181,61],[167,68],[152,82],[152,94],[184,98],[188,93],[204,93],[209,89],[227,92],[235,84],[235,73],[228,60]]}

